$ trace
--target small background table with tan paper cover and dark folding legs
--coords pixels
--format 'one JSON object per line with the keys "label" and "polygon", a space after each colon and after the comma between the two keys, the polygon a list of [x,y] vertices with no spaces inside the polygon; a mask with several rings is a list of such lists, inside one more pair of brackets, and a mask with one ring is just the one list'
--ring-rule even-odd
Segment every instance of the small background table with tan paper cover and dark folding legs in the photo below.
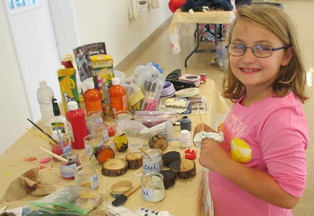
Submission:
{"label": "small background table with tan paper cover and dark folding legs", "polygon": [[[183,24],[196,24],[197,45],[190,54],[187,55],[184,61],[184,67],[187,67],[187,60],[196,52],[215,52],[216,49],[198,49],[200,46],[200,31],[199,24],[230,24],[235,19],[234,11],[217,11],[210,10],[209,12],[182,12],[178,9],[172,17],[169,27],[169,38],[171,42],[172,53],[177,54],[181,52],[180,36],[183,32]],[[215,45],[217,45],[217,26],[215,25]]]}

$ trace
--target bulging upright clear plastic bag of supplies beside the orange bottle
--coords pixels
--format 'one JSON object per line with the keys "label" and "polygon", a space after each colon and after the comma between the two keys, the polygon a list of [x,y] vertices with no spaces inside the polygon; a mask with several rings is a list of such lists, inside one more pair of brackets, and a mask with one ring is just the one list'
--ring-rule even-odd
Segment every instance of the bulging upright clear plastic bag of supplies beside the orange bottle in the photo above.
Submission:
{"label": "bulging upright clear plastic bag of supplies beside the orange bottle", "polygon": [[127,96],[131,112],[135,110],[154,111],[165,84],[162,70],[155,63],[136,67]]}

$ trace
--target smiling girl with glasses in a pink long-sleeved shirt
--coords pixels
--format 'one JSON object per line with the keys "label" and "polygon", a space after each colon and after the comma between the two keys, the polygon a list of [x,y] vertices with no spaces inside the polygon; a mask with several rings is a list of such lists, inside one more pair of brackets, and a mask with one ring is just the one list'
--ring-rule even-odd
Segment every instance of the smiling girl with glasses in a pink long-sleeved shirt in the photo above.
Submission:
{"label": "smiling girl with glasses in a pink long-sleeved shirt", "polygon": [[203,140],[199,158],[210,170],[214,215],[291,216],[305,188],[309,144],[295,30],[283,10],[249,5],[237,10],[228,43],[223,96],[235,104],[224,142]]}

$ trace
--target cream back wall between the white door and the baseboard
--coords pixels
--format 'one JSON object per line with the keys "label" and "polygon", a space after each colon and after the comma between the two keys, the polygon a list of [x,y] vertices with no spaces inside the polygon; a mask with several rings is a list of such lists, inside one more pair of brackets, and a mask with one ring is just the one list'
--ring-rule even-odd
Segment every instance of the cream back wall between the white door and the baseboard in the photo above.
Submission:
{"label": "cream back wall between the white door and the baseboard", "polygon": [[146,8],[137,22],[129,19],[130,0],[74,0],[78,28],[78,46],[105,42],[114,66],[143,42],[171,15],[168,0],[159,0],[159,8]]}

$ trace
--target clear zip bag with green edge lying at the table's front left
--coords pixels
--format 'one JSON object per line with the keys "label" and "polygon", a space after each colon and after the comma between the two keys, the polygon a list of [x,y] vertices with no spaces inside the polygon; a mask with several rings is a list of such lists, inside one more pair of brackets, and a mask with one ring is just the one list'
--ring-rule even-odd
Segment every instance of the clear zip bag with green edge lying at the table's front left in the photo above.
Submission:
{"label": "clear zip bag with green edge lying at the table's front left", "polygon": [[39,207],[40,210],[52,214],[87,215],[97,206],[104,195],[91,189],[78,186],[66,186],[29,205]]}

